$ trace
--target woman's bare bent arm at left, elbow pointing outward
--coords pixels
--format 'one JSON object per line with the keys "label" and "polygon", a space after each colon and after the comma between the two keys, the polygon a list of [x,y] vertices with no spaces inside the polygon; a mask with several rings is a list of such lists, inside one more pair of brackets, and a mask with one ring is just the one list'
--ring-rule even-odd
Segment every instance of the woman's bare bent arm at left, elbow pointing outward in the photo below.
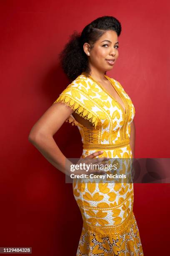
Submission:
{"label": "woman's bare bent arm at left, elbow pointing outward", "polygon": [[[53,135],[73,112],[72,108],[62,102],[52,104],[35,123],[28,136],[30,143],[40,151],[47,161],[65,174],[67,174],[67,170],[65,170],[66,157],[55,143]],[[70,162],[70,164],[72,163]]]}

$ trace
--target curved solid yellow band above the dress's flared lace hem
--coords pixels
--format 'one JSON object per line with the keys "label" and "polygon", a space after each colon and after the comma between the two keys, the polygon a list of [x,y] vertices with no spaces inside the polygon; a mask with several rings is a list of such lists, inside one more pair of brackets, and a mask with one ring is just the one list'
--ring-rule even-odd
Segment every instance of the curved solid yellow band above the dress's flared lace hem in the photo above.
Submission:
{"label": "curved solid yellow band above the dress's flared lace hem", "polygon": [[89,233],[90,235],[90,231],[92,233],[97,234],[98,236],[102,237],[102,236],[115,236],[115,233],[117,234],[123,234],[125,233],[125,231],[130,228],[131,225],[133,225],[133,223],[135,223],[135,219],[133,218],[133,210],[131,211],[130,215],[128,216],[128,218],[126,218],[121,224],[119,225],[115,225],[115,226],[99,226],[94,227],[91,226],[87,223],[83,223],[83,228],[85,228],[85,230]]}

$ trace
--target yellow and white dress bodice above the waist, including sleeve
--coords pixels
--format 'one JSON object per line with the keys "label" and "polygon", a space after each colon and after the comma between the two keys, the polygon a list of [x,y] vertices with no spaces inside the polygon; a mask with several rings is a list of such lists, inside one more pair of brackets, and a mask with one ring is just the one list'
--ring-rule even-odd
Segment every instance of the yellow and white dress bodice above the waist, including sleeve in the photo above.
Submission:
{"label": "yellow and white dress bodice above the waist, including sleeve", "polygon": [[83,146],[87,149],[100,149],[102,144],[109,148],[113,144],[115,147],[121,147],[129,143],[130,124],[135,116],[133,102],[120,82],[107,75],[105,77],[120,96],[126,111],[99,82],[84,72],[69,84],[54,102],[64,102],[77,114],[92,122],[91,129],[78,123],[72,115],[66,120],[72,125],[77,125]]}

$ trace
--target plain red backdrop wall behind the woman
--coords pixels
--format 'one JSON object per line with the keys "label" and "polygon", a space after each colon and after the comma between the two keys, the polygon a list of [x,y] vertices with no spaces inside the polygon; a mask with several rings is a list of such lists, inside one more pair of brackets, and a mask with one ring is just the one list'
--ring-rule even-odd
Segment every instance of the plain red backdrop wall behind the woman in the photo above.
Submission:
{"label": "plain red backdrop wall behind the woman", "polygon": [[[6,0],[0,5],[0,247],[30,246],[34,256],[75,256],[82,217],[72,184],[65,184],[64,174],[28,141],[34,123],[68,85],[58,54],[74,30],[82,31],[95,18],[120,20],[119,58],[107,75],[122,84],[135,105],[135,157],[168,158],[170,6],[168,0]],[[55,141],[68,158],[82,153],[76,126],[64,123]],[[167,255],[170,184],[134,184],[134,193],[145,256]]]}

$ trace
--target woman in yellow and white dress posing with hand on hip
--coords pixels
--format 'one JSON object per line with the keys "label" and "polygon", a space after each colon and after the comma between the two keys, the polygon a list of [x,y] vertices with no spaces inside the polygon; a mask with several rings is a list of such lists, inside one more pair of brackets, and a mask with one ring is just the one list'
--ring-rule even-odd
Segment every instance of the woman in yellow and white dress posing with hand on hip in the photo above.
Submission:
{"label": "woman in yellow and white dress posing with hand on hip", "polygon": [[[65,120],[80,131],[81,159],[134,156],[135,108],[121,84],[106,75],[118,58],[120,33],[116,18],[97,18],[81,35],[74,33],[60,54],[71,83],[33,126],[29,140],[65,174],[66,157],[52,137]],[[133,183],[75,179],[73,193],[83,218],[77,256],[144,255],[133,214]]]}

